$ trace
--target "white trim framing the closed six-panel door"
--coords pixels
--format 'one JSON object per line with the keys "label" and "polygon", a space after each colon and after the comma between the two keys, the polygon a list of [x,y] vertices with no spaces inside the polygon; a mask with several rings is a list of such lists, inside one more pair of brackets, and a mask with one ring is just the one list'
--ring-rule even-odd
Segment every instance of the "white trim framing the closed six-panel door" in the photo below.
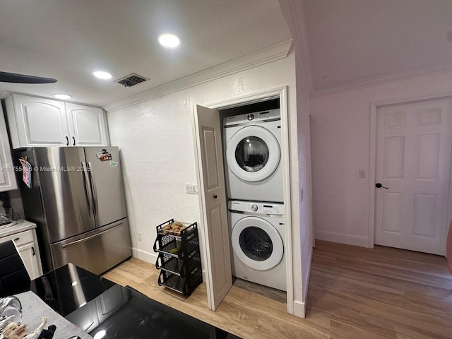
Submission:
{"label": "white trim framing the closed six-panel door", "polygon": [[[376,167],[376,110],[379,107],[411,104],[427,100],[440,100],[452,98],[451,93],[441,95],[428,95],[406,100],[391,100],[386,102],[370,103],[370,143],[369,143],[369,248],[374,248],[375,240],[375,167]],[[448,218],[452,219],[452,164],[449,179]]]}

